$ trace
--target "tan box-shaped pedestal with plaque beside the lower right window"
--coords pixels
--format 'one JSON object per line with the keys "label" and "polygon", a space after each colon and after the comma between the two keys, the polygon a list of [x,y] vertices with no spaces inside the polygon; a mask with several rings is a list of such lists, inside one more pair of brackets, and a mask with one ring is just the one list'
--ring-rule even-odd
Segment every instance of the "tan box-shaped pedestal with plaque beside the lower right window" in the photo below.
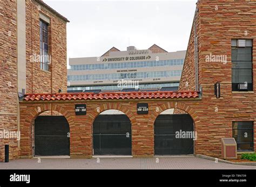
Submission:
{"label": "tan box-shaped pedestal with plaque beside the lower right window", "polygon": [[237,159],[237,142],[234,138],[221,138],[221,157]]}

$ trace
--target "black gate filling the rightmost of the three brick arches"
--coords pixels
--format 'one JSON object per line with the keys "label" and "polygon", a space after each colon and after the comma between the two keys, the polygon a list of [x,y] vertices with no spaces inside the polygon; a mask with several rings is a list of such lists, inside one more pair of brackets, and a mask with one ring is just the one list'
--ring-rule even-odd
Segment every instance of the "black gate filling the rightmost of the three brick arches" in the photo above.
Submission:
{"label": "black gate filling the rightmost of the three brick arches", "polygon": [[154,122],[155,155],[187,155],[194,152],[193,119],[188,114],[160,115]]}

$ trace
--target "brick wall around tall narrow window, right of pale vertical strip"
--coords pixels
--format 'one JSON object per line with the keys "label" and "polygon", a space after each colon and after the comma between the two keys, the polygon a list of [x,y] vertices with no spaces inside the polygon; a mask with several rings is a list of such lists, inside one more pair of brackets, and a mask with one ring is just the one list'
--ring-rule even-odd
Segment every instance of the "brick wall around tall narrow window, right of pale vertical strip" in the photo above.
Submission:
{"label": "brick wall around tall narrow window, right of pale vertical strip", "polygon": [[[40,55],[39,13],[50,18],[49,71],[42,70],[40,62],[30,61],[31,55]],[[66,23],[34,1],[26,1],[26,59],[27,93],[56,93],[59,89],[66,92]]]}

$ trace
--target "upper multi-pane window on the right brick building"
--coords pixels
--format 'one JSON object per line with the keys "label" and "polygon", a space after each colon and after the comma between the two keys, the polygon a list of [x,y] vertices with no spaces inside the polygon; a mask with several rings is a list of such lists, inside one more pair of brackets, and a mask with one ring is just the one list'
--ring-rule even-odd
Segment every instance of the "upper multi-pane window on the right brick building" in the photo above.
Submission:
{"label": "upper multi-pane window on the right brick building", "polygon": [[252,90],[252,40],[232,40],[232,91]]}

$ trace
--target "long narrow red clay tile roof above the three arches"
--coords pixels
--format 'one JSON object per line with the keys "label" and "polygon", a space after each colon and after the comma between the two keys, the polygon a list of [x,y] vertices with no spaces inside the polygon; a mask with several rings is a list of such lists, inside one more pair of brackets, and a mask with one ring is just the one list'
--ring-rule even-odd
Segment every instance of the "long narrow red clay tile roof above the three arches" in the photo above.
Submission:
{"label": "long narrow red clay tile roof above the three arches", "polygon": [[92,100],[92,99],[158,99],[158,98],[197,98],[197,91],[154,91],[154,92],[100,92],[100,93],[30,93],[24,100]]}

